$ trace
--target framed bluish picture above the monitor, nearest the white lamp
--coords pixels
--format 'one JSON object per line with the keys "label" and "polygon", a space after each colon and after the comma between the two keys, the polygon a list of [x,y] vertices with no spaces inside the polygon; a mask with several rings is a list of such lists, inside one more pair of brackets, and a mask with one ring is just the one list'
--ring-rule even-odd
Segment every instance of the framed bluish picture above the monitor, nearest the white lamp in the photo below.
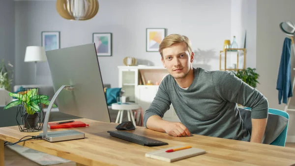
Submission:
{"label": "framed bluish picture above the monitor, nearest the white lamp", "polygon": [[41,32],[42,46],[45,51],[55,50],[60,48],[60,32],[59,31],[43,31]]}

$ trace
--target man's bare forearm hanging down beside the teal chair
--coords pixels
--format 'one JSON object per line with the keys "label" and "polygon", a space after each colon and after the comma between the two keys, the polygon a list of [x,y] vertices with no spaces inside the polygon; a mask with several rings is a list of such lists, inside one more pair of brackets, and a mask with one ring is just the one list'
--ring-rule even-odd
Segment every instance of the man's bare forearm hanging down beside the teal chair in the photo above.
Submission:
{"label": "man's bare forearm hanging down beside the teal chair", "polygon": [[250,142],[262,143],[262,139],[266,131],[266,122],[267,118],[252,119],[252,133]]}

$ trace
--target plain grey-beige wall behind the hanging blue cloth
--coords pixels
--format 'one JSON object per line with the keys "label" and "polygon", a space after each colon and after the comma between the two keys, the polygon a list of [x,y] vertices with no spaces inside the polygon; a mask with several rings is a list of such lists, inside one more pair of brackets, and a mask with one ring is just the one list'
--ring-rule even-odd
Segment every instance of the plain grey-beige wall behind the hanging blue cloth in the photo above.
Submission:
{"label": "plain grey-beige wall behind the hanging blue cloth", "polygon": [[[261,75],[257,88],[266,96],[269,107],[280,110],[284,109],[285,104],[278,104],[276,82],[286,35],[280,30],[279,24],[287,20],[295,22],[294,6],[295,0],[257,0],[256,63],[257,72]],[[292,58],[294,59],[294,54]],[[295,141],[295,112],[288,113],[288,140]]]}

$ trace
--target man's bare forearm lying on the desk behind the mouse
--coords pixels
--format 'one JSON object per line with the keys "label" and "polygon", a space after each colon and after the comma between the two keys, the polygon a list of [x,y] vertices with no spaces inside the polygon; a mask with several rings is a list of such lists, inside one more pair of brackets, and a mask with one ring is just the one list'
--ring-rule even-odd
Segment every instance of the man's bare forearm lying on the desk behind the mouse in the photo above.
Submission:
{"label": "man's bare forearm lying on the desk behind the mouse", "polygon": [[150,130],[158,131],[158,132],[165,132],[164,126],[169,123],[168,121],[163,120],[158,115],[152,115],[148,118],[147,121],[147,128]]}

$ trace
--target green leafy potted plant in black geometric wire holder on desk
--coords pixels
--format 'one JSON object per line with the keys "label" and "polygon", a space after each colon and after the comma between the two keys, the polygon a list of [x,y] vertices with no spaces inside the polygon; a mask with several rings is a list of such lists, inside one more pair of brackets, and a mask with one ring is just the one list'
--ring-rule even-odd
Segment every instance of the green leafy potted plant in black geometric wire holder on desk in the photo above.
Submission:
{"label": "green leafy potted plant in black geometric wire holder on desk", "polygon": [[[42,130],[44,111],[42,104],[49,105],[48,96],[40,95],[39,88],[21,88],[17,94],[9,93],[9,96],[17,98],[8,103],[4,109],[18,105],[17,123],[21,132],[37,132]],[[57,107],[53,104],[53,107]]]}

